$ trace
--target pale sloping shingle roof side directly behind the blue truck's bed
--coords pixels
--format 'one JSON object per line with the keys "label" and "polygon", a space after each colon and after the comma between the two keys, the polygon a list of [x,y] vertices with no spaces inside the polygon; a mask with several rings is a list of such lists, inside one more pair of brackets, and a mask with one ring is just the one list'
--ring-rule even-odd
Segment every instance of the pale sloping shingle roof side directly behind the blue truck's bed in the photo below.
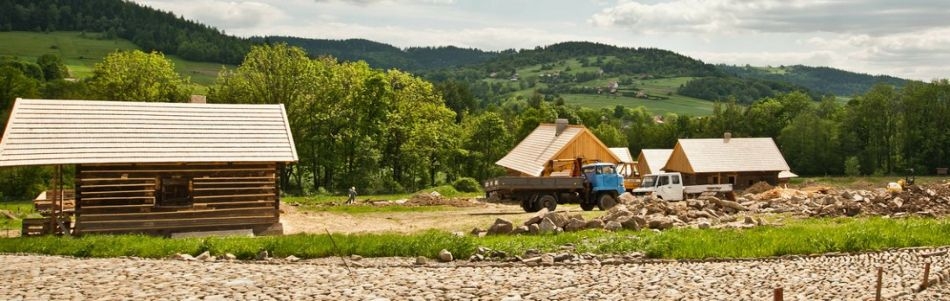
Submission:
{"label": "pale sloping shingle roof side directly behind the blue truck's bed", "polygon": [[540,176],[548,161],[585,130],[586,128],[580,126],[568,126],[560,135],[555,135],[555,124],[541,124],[495,164],[528,175]]}

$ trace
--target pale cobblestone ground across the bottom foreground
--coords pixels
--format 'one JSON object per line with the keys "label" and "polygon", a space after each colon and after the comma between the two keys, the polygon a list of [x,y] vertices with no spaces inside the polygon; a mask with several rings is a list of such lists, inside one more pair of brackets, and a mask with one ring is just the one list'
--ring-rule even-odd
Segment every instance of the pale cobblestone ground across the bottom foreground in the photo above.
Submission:
{"label": "pale cobblestone ground across the bottom foreground", "polygon": [[[948,300],[950,247],[730,262],[554,265],[322,258],[287,262],[0,255],[0,300]],[[940,252],[943,252],[940,254]],[[934,255],[936,254],[936,255]],[[926,256],[931,255],[931,256]]]}

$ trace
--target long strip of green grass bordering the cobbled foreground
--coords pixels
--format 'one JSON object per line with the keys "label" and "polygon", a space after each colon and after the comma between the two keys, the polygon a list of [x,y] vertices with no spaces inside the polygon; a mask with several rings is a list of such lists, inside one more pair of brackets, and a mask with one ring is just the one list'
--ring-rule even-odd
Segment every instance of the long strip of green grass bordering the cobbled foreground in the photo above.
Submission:
{"label": "long strip of green grass bordering the cobbled foreground", "polygon": [[251,259],[267,250],[275,257],[318,258],[358,254],[364,257],[435,257],[447,249],[457,258],[478,246],[510,255],[528,249],[556,252],[572,244],[579,253],[628,254],[649,258],[760,258],[827,252],[880,251],[890,248],[950,245],[950,220],[838,218],[793,221],[752,229],[674,229],[663,232],[586,230],[550,235],[455,236],[442,231],[418,234],[298,234],[276,237],[166,239],[140,235],[0,238],[0,253],[37,253],[78,257],[136,256],[163,258],[175,253],[231,253]]}

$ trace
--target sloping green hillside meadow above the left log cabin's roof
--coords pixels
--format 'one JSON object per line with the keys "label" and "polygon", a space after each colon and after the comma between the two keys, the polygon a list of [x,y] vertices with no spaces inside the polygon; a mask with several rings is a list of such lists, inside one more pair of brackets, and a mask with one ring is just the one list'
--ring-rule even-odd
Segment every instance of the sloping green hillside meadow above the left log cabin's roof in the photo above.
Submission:
{"label": "sloping green hillside meadow above the left log cabin's roof", "polygon": [[[44,54],[56,54],[65,61],[70,74],[75,78],[92,75],[96,63],[117,50],[138,49],[135,44],[124,39],[98,39],[99,34],[74,31],[51,33],[38,32],[0,32],[0,56],[14,56],[23,60],[36,61]],[[212,84],[221,71],[222,64],[192,62],[177,56],[167,58],[175,63],[175,70],[182,76],[200,85]],[[204,87],[198,87],[203,91]]]}

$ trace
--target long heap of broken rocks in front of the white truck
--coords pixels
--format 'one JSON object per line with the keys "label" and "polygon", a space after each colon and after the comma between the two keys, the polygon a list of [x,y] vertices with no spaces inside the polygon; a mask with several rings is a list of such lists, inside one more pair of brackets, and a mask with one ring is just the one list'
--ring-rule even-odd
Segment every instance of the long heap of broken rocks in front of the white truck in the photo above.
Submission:
{"label": "long heap of broken rocks in front of the white truck", "polygon": [[[617,206],[602,216],[585,220],[579,213],[541,209],[521,225],[499,218],[488,229],[473,235],[540,234],[585,229],[665,230],[673,227],[748,228],[767,224],[761,216],[789,213],[801,217],[950,215],[950,183],[909,186],[899,193],[876,190],[836,190],[808,187],[801,190],[756,184],[736,201],[700,196],[681,202],[650,197],[620,196]],[[756,187],[757,186],[757,187]],[[761,191],[758,193],[752,193]]]}

